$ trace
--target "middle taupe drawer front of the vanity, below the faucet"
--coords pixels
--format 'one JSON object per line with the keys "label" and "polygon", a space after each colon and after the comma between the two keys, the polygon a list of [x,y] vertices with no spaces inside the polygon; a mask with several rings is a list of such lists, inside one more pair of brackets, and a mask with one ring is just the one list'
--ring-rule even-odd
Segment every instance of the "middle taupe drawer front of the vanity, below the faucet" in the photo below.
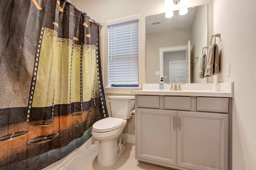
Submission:
{"label": "middle taupe drawer front of the vanity, below the faucet", "polygon": [[190,110],[191,97],[164,96],[164,109]]}

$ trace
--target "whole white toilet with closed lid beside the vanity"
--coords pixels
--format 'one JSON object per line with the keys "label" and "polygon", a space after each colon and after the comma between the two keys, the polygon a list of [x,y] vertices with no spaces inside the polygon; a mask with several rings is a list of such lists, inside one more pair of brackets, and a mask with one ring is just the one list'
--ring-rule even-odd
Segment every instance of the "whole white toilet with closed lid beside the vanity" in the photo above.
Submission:
{"label": "whole white toilet with closed lid beside the vanity", "polygon": [[111,166],[124,151],[121,144],[121,134],[127,123],[126,119],[132,116],[134,109],[134,96],[108,96],[112,117],[96,121],[92,125],[92,136],[99,140],[98,164]]}

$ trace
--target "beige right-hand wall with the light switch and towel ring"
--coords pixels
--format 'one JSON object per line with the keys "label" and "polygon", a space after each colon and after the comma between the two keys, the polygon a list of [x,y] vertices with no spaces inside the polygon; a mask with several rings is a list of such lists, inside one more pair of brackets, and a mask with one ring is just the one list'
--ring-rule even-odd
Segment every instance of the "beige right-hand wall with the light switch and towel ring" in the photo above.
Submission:
{"label": "beige right-hand wall with the light switch and towel ring", "polygon": [[[214,82],[234,82],[232,170],[256,170],[256,1],[215,0],[214,33],[220,72]],[[230,63],[230,77],[226,64]]]}

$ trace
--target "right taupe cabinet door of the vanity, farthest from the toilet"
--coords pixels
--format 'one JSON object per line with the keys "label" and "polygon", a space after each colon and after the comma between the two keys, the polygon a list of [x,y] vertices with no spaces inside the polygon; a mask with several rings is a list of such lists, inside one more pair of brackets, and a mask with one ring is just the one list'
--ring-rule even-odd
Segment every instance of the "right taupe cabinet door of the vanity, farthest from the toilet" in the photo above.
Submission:
{"label": "right taupe cabinet door of the vanity, farthest from the toilet", "polygon": [[228,115],[178,111],[177,166],[228,170]]}

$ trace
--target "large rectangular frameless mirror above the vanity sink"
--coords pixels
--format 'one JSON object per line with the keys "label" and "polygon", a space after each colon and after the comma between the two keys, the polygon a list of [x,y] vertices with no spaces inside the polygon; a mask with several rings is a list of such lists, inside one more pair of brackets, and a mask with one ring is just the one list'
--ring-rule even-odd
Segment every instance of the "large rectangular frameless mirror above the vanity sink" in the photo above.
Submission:
{"label": "large rectangular frameless mirror above the vanity sink", "polygon": [[[188,8],[188,13],[183,16],[177,10],[172,18],[165,18],[165,13],[146,17],[146,83],[158,83],[161,76],[165,78],[164,82],[173,83],[170,81],[173,69],[169,63],[177,62],[188,63],[187,77],[190,81],[186,83],[207,82],[206,78],[198,78],[202,49],[208,42],[207,8],[207,4],[194,6]],[[190,61],[186,59],[186,49],[164,50],[183,49],[189,41]]]}

